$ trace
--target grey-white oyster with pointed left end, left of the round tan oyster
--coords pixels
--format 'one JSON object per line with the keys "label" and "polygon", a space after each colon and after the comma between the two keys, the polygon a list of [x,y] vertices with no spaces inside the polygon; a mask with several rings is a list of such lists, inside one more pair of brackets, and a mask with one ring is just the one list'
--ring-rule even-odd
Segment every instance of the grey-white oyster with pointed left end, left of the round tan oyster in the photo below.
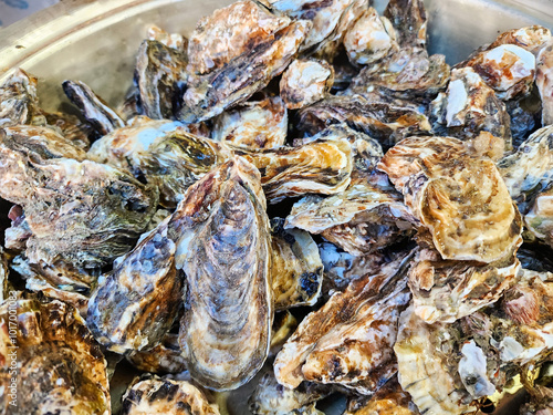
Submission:
{"label": "grey-white oyster with pointed left end, left of the round tan oyster", "polygon": [[362,256],[409,236],[416,221],[401,195],[359,180],[340,195],[302,198],[286,217],[286,227],[320,234],[347,252]]}

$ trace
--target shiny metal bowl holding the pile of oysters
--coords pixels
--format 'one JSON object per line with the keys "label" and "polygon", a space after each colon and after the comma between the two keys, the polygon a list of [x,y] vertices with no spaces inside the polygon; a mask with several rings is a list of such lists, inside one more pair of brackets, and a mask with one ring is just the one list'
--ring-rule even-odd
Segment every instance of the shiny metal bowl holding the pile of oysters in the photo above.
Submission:
{"label": "shiny metal bowl holding the pile of oysters", "polygon": [[[196,22],[231,0],[64,0],[8,28],[0,29],[0,82],[20,66],[39,76],[39,97],[46,111],[66,98],[61,82],[81,80],[109,104],[117,105],[132,83],[135,53],[149,24],[190,34]],[[387,0],[374,0],[383,11]],[[498,33],[529,24],[553,29],[552,0],[425,0],[429,49],[456,63]],[[133,372],[123,365],[114,380],[113,403]],[[126,373],[125,371],[128,371]],[[251,386],[250,386],[251,387]],[[231,394],[229,412],[246,414],[248,388]],[[521,396],[503,401],[494,414],[518,413]],[[330,403],[328,415],[341,414]],[[225,409],[222,411],[225,412]]]}

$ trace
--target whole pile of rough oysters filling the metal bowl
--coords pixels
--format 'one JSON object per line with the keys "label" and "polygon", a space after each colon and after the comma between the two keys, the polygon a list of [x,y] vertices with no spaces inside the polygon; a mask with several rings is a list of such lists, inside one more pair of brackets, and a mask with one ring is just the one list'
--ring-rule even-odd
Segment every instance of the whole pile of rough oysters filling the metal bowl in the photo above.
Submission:
{"label": "whole pile of rough oysters filling the metal bowl", "polygon": [[553,37],[450,66],[426,29],[240,0],[150,28],[116,108],[14,70],[0,414],[553,414]]}

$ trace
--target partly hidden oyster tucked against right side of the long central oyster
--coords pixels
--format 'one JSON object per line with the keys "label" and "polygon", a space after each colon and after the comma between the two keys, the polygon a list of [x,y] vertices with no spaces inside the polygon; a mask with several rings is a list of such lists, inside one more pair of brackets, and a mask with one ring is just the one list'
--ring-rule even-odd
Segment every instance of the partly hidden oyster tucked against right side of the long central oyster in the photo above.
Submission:
{"label": "partly hidden oyster tucked against right side of the long central oyster", "polygon": [[271,220],[271,277],[274,310],[313,305],[323,283],[323,263],[313,238],[300,229],[284,229],[284,219]]}

